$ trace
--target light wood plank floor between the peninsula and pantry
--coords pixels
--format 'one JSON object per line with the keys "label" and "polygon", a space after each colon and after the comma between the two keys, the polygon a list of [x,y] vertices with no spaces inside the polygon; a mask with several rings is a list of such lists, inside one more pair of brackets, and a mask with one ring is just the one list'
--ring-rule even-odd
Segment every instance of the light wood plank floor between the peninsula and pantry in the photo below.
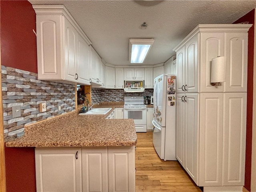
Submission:
{"label": "light wood plank floor between the peninsula and pantry", "polygon": [[178,161],[158,157],[152,132],[137,133],[135,167],[136,192],[202,192]]}

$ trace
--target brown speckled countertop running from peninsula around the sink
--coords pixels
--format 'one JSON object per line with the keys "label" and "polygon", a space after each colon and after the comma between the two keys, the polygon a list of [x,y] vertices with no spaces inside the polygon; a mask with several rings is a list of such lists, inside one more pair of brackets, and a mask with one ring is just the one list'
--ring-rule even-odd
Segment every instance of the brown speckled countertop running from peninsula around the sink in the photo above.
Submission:
{"label": "brown speckled countertop running from peninsula around the sink", "polygon": [[112,108],[106,115],[78,115],[71,112],[25,127],[20,138],[5,143],[6,147],[86,147],[134,146],[137,136],[132,119],[105,119],[123,102],[94,105]]}

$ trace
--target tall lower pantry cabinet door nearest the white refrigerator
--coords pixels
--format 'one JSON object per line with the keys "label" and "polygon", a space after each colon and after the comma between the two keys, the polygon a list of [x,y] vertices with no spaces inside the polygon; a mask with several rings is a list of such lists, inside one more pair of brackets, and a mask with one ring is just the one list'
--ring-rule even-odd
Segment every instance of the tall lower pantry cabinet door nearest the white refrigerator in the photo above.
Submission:
{"label": "tall lower pantry cabinet door nearest the white refrigerator", "polygon": [[185,94],[176,94],[176,158],[184,167],[185,149]]}

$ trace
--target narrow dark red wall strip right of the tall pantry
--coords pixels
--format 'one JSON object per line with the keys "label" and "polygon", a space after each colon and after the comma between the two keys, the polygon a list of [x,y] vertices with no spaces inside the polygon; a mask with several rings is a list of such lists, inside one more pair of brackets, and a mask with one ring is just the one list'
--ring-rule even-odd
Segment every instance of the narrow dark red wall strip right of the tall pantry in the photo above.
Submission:
{"label": "narrow dark red wall strip right of the tall pantry", "polygon": [[254,65],[254,14],[255,9],[236,20],[234,23],[248,21],[253,26],[248,31],[248,84],[247,84],[247,120],[246,120],[246,158],[244,187],[251,191],[252,170],[252,99],[253,99],[253,65]]}

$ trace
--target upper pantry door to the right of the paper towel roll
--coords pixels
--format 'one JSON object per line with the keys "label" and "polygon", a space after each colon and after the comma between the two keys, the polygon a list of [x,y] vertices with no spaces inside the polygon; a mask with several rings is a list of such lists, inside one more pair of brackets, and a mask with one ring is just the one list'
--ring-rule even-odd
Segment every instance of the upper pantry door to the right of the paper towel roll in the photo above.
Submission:
{"label": "upper pantry door to the right of the paper towel roll", "polygon": [[226,33],[225,92],[247,91],[248,33]]}

